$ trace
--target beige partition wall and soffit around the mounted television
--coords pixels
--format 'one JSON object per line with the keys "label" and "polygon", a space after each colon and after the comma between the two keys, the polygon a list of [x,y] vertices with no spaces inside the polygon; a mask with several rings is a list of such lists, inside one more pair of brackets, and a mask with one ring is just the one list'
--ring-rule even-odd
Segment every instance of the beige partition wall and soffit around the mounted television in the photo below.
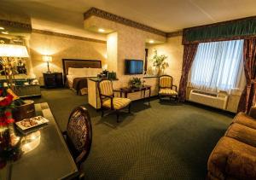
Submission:
{"label": "beige partition wall and soffit around the mounted television", "polygon": [[[119,87],[127,86],[131,77],[137,76],[143,78],[143,75],[125,75],[125,59],[144,60],[145,47],[148,39],[154,39],[154,41],[157,42],[166,42],[166,37],[96,16],[91,16],[89,19],[84,20],[84,27],[86,29],[98,27],[112,31],[107,38],[107,44],[109,44],[109,46],[107,45],[108,47],[111,45],[109,40],[111,36],[114,36],[117,39],[117,47],[114,46],[112,49],[107,48],[108,50],[111,50],[108,52],[107,63],[108,67],[111,67],[108,68],[109,70],[113,70],[112,67],[117,66],[116,73],[120,79],[117,86]],[[114,42],[114,45],[115,43],[116,42]]]}

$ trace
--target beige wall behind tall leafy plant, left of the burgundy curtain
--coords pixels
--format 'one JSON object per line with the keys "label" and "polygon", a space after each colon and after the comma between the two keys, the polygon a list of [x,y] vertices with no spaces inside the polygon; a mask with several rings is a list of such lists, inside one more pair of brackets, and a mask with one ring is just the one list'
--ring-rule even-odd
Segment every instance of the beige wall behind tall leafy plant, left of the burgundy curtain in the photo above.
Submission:
{"label": "beige wall behind tall leafy plant, left of the burgundy curtain", "polygon": [[167,55],[166,62],[169,67],[164,71],[165,74],[173,77],[173,82],[177,86],[179,85],[182,64],[183,64],[183,45],[182,36],[167,38],[165,44],[148,45],[148,70],[152,68],[153,50],[156,49],[159,55]]}

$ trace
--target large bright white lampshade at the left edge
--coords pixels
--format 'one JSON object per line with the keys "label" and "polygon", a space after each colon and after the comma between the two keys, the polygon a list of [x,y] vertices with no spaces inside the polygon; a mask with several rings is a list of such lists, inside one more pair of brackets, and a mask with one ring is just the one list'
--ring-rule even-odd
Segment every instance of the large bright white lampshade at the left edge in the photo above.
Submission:
{"label": "large bright white lampshade at the left edge", "polygon": [[0,57],[29,57],[26,46],[0,44]]}

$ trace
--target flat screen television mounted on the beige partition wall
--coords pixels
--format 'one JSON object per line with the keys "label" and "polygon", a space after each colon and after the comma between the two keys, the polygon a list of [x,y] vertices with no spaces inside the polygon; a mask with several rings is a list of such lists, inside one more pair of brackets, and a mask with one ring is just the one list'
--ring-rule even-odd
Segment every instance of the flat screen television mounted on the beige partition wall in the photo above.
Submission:
{"label": "flat screen television mounted on the beige partition wall", "polygon": [[143,74],[143,60],[125,60],[125,74]]}

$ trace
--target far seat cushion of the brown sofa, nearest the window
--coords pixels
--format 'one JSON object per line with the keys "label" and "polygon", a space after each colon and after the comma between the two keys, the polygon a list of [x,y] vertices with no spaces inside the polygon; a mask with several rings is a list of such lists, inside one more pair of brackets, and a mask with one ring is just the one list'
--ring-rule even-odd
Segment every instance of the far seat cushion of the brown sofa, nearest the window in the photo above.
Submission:
{"label": "far seat cushion of the brown sofa, nearest the window", "polygon": [[236,117],[233,119],[233,123],[246,125],[256,130],[256,120],[250,116],[247,116],[246,113],[237,113]]}

